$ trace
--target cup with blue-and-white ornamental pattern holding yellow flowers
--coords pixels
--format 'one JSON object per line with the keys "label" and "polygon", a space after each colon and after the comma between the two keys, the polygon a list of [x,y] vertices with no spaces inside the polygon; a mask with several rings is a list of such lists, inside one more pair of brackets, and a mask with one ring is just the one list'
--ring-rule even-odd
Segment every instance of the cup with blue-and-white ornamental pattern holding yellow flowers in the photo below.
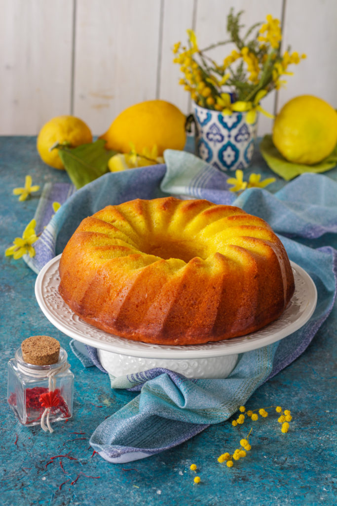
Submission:
{"label": "cup with blue-and-white ornamental pattern holding yellow flowers", "polygon": [[224,115],[194,104],[196,149],[203,160],[221,171],[236,171],[249,166],[257,132],[255,123],[246,122],[247,112]]}

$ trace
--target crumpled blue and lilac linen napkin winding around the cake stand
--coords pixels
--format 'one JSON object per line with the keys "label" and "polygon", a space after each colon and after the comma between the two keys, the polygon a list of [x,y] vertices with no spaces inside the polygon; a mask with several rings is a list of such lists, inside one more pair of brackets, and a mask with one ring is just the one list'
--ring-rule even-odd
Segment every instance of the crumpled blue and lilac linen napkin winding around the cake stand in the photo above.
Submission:
{"label": "crumpled blue and lilac linen napkin winding around the cake stand", "polygon": [[[105,175],[64,198],[65,203],[34,245],[36,256],[26,259],[28,265],[38,272],[62,251],[81,219],[109,203],[167,194],[207,198],[215,203],[238,205],[283,234],[280,238],[290,259],[313,278],[318,303],[311,319],[297,332],[278,343],[240,355],[226,379],[187,379],[166,369],[111,378],[113,388],[140,390],[91,436],[91,446],[111,462],[159,453],[210,424],[229,418],[261,384],[303,353],[335,299],[336,250],[317,246],[321,245],[319,238],[323,234],[336,232],[337,183],[326,176],[304,174],[274,195],[251,188],[236,197],[228,191],[227,175],[194,155],[167,150],[165,161],[166,165]],[[69,191],[68,185],[64,192]],[[38,213],[36,218],[38,230]],[[88,348],[88,352],[94,363],[94,349]]]}

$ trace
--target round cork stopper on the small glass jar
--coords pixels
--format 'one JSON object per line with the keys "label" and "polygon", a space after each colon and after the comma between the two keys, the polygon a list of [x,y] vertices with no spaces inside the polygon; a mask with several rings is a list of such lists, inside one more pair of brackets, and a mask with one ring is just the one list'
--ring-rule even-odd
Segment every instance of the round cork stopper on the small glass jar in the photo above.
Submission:
{"label": "round cork stopper on the small glass jar", "polygon": [[32,335],[21,343],[22,358],[28,364],[50,365],[59,360],[60,343],[49,335]]}

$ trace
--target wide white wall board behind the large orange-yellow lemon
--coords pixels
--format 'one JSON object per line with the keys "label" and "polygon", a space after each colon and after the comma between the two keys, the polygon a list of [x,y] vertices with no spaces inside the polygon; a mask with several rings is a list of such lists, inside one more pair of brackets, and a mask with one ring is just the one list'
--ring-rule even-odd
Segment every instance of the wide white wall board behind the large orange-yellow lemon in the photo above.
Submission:
{"label": "wide white wall board behind the large orange-yellow lemon", "polygon": [[158,0],[77,0],[74,114],[103,134],[126,107],[156,98]]}

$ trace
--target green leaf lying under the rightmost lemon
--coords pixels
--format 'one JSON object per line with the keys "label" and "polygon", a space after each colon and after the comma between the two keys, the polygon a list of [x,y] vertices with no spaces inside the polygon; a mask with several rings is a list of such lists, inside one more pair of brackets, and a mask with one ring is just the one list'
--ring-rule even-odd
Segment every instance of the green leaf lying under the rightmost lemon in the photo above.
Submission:
{"label": "green leaf lying under the rightmost lemon", "polygon": [[314,165],[287,161],[274,146],[271,135],[264,136],[260,144],[260,151],[269,168],[286,181],[290,181],[305,172],[326,172],[337,164],[337,146],[329,156]]}

